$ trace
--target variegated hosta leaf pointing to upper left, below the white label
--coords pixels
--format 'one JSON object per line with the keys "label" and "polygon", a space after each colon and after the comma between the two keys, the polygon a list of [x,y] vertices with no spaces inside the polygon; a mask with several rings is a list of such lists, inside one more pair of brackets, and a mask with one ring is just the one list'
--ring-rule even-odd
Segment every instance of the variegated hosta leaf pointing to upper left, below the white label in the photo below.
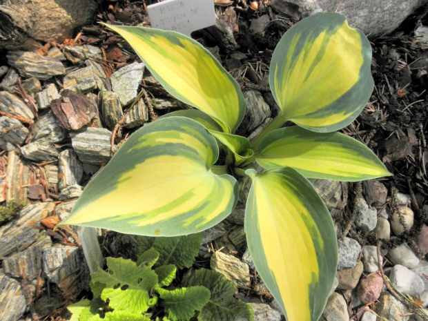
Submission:
{"label": "variegated hosta leaf pointing to upper left, below the white label", "polygon": [[173,31],[104,26],[128,41],[168,93],[219,119],[224,132],[235,131],[244,117],[244,96],[235,79],[200,43]]}

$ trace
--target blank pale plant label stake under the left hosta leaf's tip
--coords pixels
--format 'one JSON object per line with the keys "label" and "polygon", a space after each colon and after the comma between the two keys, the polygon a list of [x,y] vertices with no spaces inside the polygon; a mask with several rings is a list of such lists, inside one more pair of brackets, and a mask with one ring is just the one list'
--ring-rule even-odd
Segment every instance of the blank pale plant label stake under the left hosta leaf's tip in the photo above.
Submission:
{"label": "blank pale plant label stake under the left hosta leaf's tip", "polygon": [[104,257],[99,247],[97,229],[92,227],[81,227],[79,231],[81,247],[84,249],[86,263],[90,273],[97,271],[98,266],[104,267]]}

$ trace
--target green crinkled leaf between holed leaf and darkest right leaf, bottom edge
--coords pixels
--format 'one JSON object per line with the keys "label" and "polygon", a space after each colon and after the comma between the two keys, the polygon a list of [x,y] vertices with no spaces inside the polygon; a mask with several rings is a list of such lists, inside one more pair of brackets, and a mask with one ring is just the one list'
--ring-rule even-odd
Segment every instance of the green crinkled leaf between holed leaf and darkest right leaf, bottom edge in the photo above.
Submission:
{"label": "green crinkled leaf between holed leaf and darkest right leaf, bottom edge", "polygon": [[171,321],[190,320],[195,315],[195,311],[200,311],[211,296],[205,286],[191,286],[173,291],[158,290]]}

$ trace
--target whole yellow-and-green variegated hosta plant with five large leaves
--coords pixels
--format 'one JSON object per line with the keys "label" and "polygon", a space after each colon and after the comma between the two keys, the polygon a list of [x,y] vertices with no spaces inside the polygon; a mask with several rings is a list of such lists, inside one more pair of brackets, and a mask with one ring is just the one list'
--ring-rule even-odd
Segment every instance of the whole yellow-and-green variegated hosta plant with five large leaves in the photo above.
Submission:
{"label": "whole yellow-and-green variegated hosta plant with five large leaves", "polygon": [[[308,179],[389,175],[364,144],[335,132],[371,95],[367,38],[338,13],[314,14],[290,28],[269,71],[280,112],[249,142],[234,135],[245,113],[240,86],[199,43],[176,32],[107,27],[168,93],[196,109],[133,133],[63,224],[150,236],[197,233],[233,211],[237,177],[246,175],[246,238],[257,272],[287,320],[318,320],[338,254],[331,216]],[[289,121],[297,126],[281,128]],[[220,160],[219,146],[226,155]]]}

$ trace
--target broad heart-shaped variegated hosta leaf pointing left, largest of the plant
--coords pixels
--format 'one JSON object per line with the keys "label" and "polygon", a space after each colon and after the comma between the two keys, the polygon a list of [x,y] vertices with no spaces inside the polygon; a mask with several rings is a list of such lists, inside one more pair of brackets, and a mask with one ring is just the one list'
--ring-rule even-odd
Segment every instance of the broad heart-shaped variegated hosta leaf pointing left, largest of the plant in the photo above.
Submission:
{"label": "broad heart-shaped variegated hosta leaf pointing left, largest of the plant", "polygon": [[192,119],[158,119],[139,128],[88,183],[61,224],[149,236],[204,231],[231,213],[237,182],[215,175],[214,137]]}

